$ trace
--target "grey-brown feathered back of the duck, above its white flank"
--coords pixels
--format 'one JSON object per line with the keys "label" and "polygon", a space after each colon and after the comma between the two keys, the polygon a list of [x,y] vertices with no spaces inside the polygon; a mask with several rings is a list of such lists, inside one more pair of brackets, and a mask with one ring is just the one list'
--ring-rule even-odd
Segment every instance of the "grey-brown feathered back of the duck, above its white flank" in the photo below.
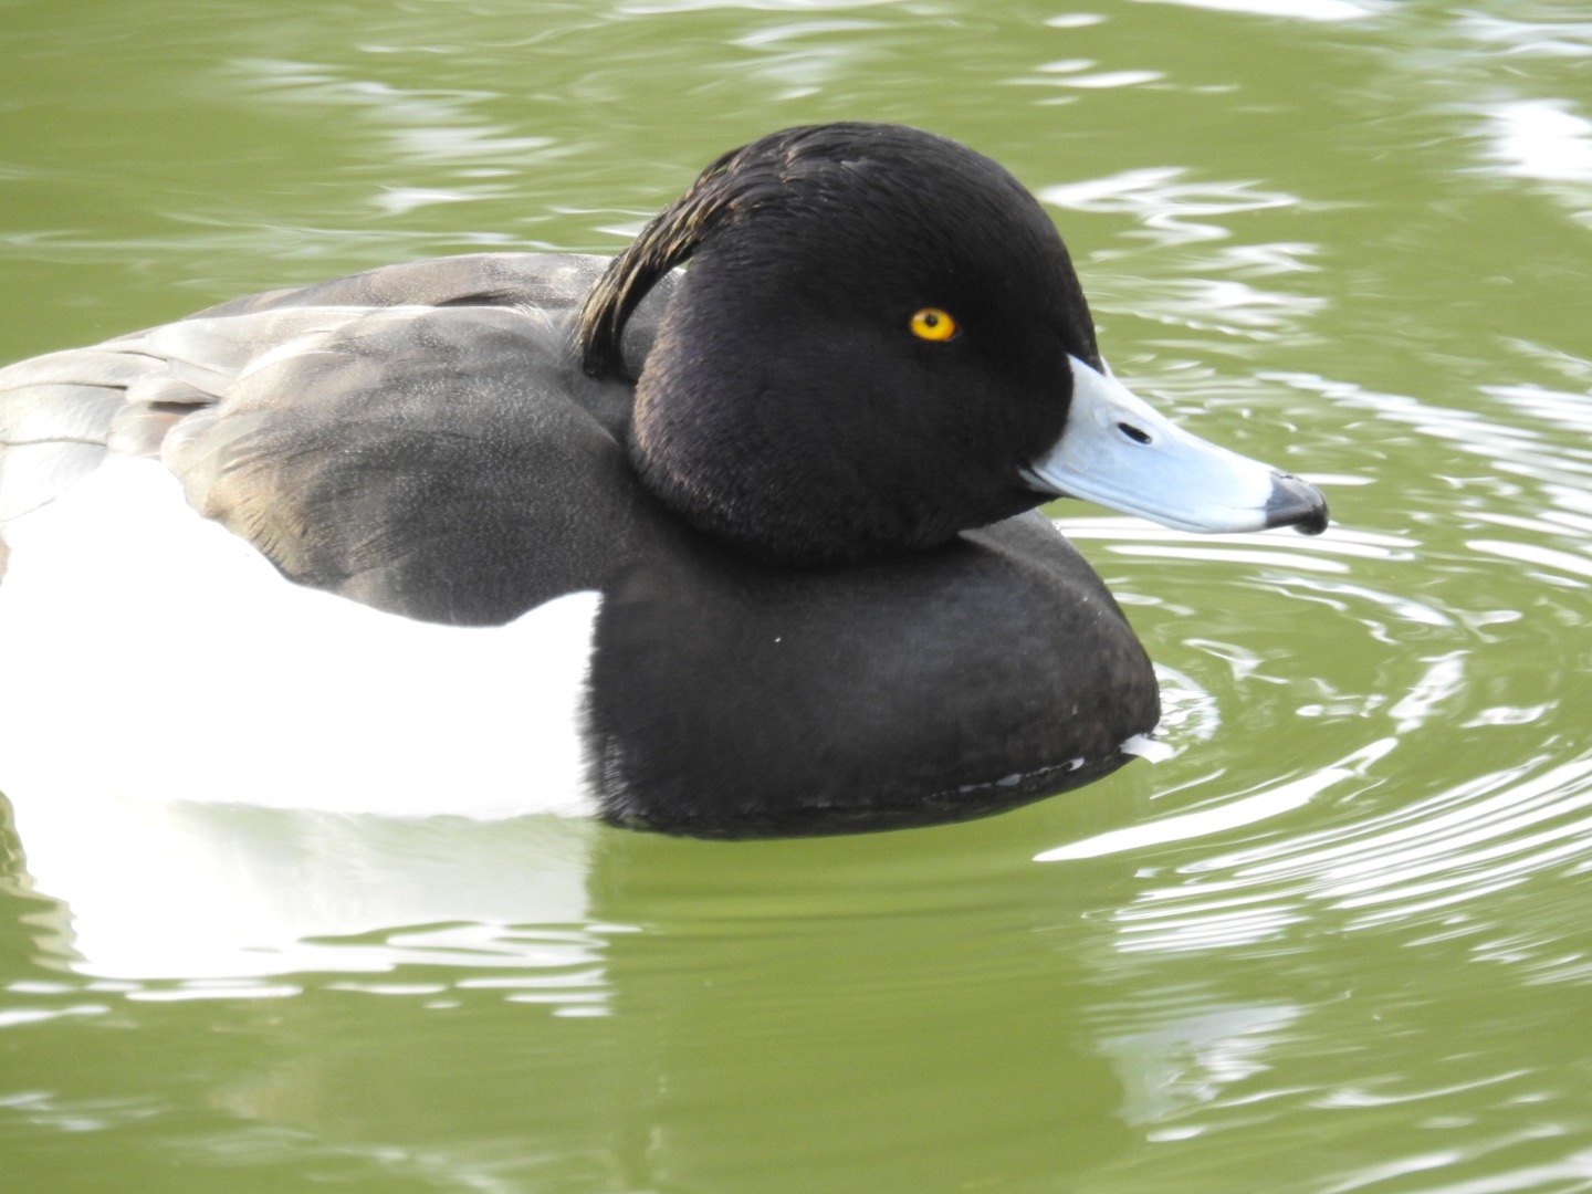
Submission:
{"label": "grey-brown feathered back of the duck, above its white flank", "polygon": [[[283,573],[379,608],[500,622],[595,586],[654,522],[630,387],[575,349],[603,264],[387,266],[0,369],[0,544],[107,455],[158,455]],[[630,320],[637,366],[667,290]]]}

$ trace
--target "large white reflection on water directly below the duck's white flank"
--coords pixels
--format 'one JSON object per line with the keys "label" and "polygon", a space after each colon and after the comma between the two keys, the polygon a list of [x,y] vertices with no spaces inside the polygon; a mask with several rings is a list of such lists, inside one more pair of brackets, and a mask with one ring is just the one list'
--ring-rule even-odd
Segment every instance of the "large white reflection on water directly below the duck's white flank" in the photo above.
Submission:
{"label": "large white reflection on water directly below the duck's white flank", "polygon": [[88,842],[81,817],[30,826],[29,874],[64,901],[30,919],[43,954],[134,981],[129,998],[291,995],[259,979],[398,966],[500,971],[471,982],[575,1014],[608,998],[605,936],[624,930],[587,923],[591,821],[113,801],[92,818]]}

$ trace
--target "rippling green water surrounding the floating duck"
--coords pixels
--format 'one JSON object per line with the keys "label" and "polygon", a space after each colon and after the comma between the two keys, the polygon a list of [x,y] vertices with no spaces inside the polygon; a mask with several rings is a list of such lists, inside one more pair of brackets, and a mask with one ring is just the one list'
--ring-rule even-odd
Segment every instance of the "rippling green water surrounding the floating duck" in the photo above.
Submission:
{"label": "rippling green water surrounding the floating duck", "polygon": [[758,132],[899,119],[1041,194],[1116,371],[1337,519],[1059,506],[1172,753],[985,821],[215,814],[209,872],[81,825],[108,896],[0,833],[0,1188],[1592,1191],[1584,6],[11,0],[0,62],[0,358],[611,250]]}

